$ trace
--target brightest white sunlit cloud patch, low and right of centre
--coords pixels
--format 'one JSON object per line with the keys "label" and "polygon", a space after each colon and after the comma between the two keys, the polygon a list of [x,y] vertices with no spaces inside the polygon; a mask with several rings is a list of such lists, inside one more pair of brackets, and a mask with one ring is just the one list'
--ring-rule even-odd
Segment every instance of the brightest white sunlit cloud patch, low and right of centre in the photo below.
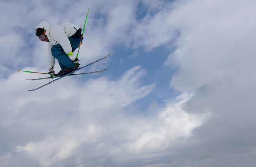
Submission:
{"label": "brightest white sunlit cloud patch, low and right of centre", "polygon": [[162,151],[171,146],[171,142],[177,138],[190,136],[191,131],[201,126],[207,115],[193,115],[182,110],[182,104],[189,99],[190,96],[183,95],[177,103],[167,104],[158,114],[157,123],[151,122],[152,127],[145,129],[135,141],[131,142],[128,151],[136,153],[142,150],[144,153]]}

